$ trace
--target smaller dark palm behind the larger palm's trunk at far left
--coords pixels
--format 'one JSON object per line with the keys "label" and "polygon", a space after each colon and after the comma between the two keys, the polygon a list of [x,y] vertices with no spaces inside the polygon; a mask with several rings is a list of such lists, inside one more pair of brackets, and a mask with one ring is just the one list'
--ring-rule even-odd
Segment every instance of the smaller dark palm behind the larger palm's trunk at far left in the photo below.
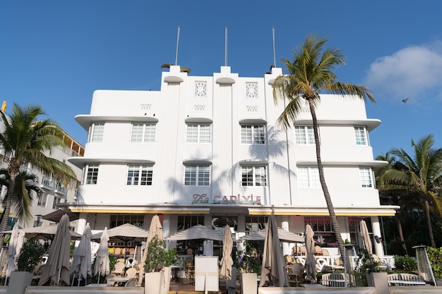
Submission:
{"label": "smaller dark palm behind the larger palm's trunk at far left", "polygon": [[[11,177],[9,176],[7,169],[0,169],[0,186],[9,186],[9,181]],[[31,206],[32,206],[32,191],[37,194],[42,192],[42,189],[36,185],[37,176],[33,173],[28,173],[26,171],[20,171],[16,176],[16,184],[14,187],[13,199],[11,202],[11,207],[13,207],[16,212],[17,219],[23,223],[30,223],[34,218],[32,216]],[[6,197],[3,199],[3,207],[6,206]],[[0,220],[4,217],[1,214]]]}

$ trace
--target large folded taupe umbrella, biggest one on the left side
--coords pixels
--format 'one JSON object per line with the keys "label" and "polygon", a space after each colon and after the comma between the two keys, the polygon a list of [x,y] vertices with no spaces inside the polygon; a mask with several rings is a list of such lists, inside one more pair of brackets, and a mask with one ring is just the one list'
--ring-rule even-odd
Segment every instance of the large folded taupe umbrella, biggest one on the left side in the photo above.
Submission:
{"label": "large folded taupe umbrella, biggest one on the left side", "polygon": [[56,285],[59,285],[60,281],[69,284],[69,267],[71,267],[69,263],[70,245],[69,216],[65,214],[61,216],[60,223],[57,226],[42,277],[38,282],[39,286],[44,285],[47,281]]}

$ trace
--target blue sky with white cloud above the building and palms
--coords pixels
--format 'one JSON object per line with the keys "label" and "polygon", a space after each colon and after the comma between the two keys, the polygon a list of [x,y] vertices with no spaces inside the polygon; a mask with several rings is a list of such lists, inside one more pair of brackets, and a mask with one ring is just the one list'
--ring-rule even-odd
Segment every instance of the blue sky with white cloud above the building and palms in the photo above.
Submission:
{"label": "blue sky with white cloud above the building and palms", "polygon": [[[429,134],[442,147],[442,1],[0,1],[0,102],[39,104],[83,144],[74,120],[94,90],[160,90],[162,63],[258,77],[306,35],[342,49],[342,82],[366,85],[374,155]],[[283,68],[283,72],[285,68]],[[407,103],[402,99],[409,98]]]}

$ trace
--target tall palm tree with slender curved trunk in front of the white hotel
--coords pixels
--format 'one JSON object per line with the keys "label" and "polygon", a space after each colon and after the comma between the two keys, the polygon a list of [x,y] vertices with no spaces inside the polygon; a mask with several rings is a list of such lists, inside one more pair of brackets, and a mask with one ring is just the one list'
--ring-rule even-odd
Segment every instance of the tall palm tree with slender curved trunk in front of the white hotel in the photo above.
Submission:
{"label": "tall palm tree with slender curved trunk in front of the white hotel", "polygon": [[318,135],[318,121],[316,119],[317,102],[321,99],[321,94],[352,94],[360,99],[369,99],[375,102],[371,91],[364,86],[352,85],[339,82],[333,69],[344,65],[344,56],[340,49],[323,49],[327,42],[327,37],[318,39],[315,36],[307,36],[304,44],[294,51],[293,61],[282,59],[288,75],[282,75],[275,80],[273,87],[273,97],[275,103],[288,99],[287,106],[277,119],[285,128],[291,126],[296,121],[301,111],[304,101],[309,103],[311,118],[313,120],[313,133],[316,145],[316,160],[318,162],[319,180],[327,203],[330,222],[339,245],[340,253],[344,256],[344,243],[340,234],[338,219],[335,209],[325,183],[323,164],[321,161],[321,145]]}

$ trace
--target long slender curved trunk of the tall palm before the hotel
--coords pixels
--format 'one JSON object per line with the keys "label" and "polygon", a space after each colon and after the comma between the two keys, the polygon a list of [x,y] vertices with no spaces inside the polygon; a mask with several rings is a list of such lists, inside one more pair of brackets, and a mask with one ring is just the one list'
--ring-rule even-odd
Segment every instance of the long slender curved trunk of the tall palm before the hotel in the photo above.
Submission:
{"label": "long slender curved trunk of the tall palm before the hotel", "polygon": [[328,192],[327,184],[325,183],[324,168],[321,161],[321,144],[319,142],[318,120],[316,119],[316,111],[315,111],[315,106],[313,104],[313,98],[309,98],[309,106],[310,106],[311,118],[313,119],[313,133],[315,135],[316,161],[318,161],[319,181],[321,182],[321,187],[325,197],[325,202],[327,202],[328,214],[330,214],[330,223],[333,228],[333,232],[335,233],[336,242],[338,243],[341,257],[344,258],[345,247],[344,247],[344,242],[342,241],[338,218],[336,217],[330,193]]}

